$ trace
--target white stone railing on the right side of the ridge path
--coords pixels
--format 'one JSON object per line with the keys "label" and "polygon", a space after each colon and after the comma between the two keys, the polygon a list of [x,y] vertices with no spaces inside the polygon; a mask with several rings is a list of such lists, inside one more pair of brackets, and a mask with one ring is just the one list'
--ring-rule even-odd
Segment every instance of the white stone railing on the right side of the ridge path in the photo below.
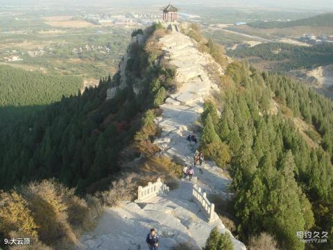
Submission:
{"label": "white stone railing on the right side of the ridge path", "polygon": [[217,217],[214,212],[215,205],[214,203],[210,203],[207,199],[207,194],[205,192],[201,192],[201,188],[197,185],[193,185],[192,196],[194,201],[201,208],[203,213],[207,216],[210,222],[213,222]]}

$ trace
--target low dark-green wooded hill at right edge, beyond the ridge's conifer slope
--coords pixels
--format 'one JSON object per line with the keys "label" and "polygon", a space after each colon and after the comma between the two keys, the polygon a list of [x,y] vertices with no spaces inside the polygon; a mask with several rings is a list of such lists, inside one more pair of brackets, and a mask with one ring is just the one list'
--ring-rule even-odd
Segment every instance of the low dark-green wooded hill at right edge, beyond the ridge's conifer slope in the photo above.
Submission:
{"label": "low dark-green wooded hill at right edge, beyond the ridge's conifer slope", "polygon": [[333,44],[317,44],[312,47],[286,43],[265,43],[255,47],[239,47],[228,51],[228,55],[237,58],[261,58],[276,61],[279,69],[305,69],[333,63]]}

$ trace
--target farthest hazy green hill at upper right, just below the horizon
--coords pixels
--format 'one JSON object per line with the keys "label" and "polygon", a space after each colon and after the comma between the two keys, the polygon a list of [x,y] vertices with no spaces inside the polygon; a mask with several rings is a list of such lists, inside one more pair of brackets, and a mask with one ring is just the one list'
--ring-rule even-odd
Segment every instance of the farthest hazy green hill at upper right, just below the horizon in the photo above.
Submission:
{"label": "farthest hazy green hill at upper right, just below the horizon", "polygon": [[288,28],[294,26],[333,27],[333,14],[327,13],[289,22],[252,22],[248,25],[255,28]]}

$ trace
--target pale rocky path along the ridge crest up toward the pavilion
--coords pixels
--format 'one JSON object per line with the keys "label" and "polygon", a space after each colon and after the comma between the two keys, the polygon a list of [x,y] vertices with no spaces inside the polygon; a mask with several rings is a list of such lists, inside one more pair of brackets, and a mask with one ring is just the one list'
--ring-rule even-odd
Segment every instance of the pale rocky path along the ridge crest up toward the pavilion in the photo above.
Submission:
{"label": "pale rocky path along the ridge crest up toward the pavilion", "polygon": [[[186,137],[203,110],[205,98],[216,85],[204,69],[210,63],[207,56],[196,50],[191,39],[174,32],[161,42],[171,64],[178,67],[177,80],[182,86],[161,106],[163,114],[156,122],[162,128],[162,135],[155,143],[165,155],[178,156],[190,165],[197,145],[188,142]],[[214,163],[205,162],[200,169],[196,167],[195,176],[207,193],[225,194],[226,184],[230,183]],[[179,242],[191,242],[200,249],[214,226],[223,233],[227,229],[220,219],[207,222],[191,200],[191,190],[192,183],[182,180],[180,188],[153,197],[147,203],[124,202],[119,208],[107,208],[94,231],[80,239],[78,249],[147,249],[145,239],[152,227],[160,235],[160,250],[171,249]],[[238,240],[232,238],[232,242],[234,249],[246,249]]]}

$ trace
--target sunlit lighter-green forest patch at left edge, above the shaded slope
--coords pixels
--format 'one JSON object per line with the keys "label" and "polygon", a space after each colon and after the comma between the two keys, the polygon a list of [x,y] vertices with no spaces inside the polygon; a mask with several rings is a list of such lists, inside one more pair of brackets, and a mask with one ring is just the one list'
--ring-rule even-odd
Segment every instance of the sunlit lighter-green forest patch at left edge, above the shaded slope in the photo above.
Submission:
{"label": "sunlit lighter-green forest patch at left edge, above the shaded slope", "polygon": [[42,74],[0,65],[0,106],[42,106],[78,94],[83,81],[75,76]]}

